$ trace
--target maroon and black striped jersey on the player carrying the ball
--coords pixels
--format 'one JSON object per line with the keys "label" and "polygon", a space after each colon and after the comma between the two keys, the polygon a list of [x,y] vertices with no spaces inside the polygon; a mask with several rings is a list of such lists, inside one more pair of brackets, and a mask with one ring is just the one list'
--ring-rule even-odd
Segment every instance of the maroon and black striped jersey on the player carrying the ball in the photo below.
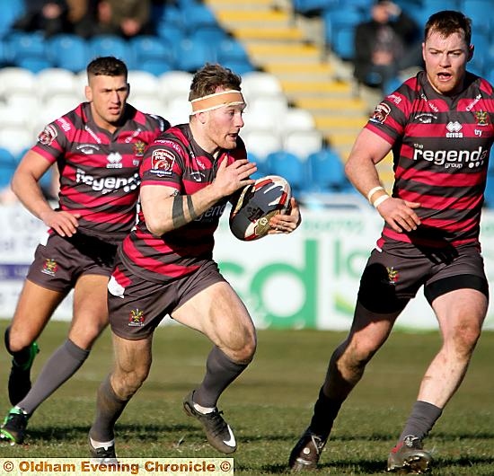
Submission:
{"label": "maroon and black striped jersey on the player carrying the ball", "polygon": [[[191,195],[215,180],[220,163],[246,158],[240,137],[234,149],[221,151],[215,158],[195,142],[189,124],[182,124],[168,129],[146,150],[141,165],[142,185],[163,185],[180,195]],[[212,260],[213,235],[228,199],[219,200],[194,221],[160,237],[147,230],[146,218],[140,212],[137,229],[119,250],[120,259],[133,273],[154,282],[190,274]]]}

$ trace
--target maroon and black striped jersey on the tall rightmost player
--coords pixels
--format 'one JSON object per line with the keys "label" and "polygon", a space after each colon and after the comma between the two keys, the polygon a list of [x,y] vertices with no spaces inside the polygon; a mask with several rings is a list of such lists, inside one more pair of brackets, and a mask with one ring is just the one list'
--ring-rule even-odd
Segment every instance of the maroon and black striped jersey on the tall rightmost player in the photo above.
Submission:
{"label": "maroon and black striped jersey on the tall rightmost player", "polygon": [[384,98],[366,124],[393,146],[393,197],[419,202],[421,225],[386,238],[423,246],[479,243],[481,208],[494,140],[492,85],[467,73],[462,93],[437,93],[425,72]]}

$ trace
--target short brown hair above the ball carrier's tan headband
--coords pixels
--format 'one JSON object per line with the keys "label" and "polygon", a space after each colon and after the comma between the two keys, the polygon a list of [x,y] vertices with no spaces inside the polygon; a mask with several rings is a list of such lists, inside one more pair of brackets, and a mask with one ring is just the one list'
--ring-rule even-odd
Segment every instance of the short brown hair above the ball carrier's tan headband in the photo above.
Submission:
{"label": "short brown hair above the ball carrier's tan headband", "polygon": [[216,93],[216,88],[241,91],[242,78],[225,66],[207,63],[200,68],[190,84],[189,101]]}

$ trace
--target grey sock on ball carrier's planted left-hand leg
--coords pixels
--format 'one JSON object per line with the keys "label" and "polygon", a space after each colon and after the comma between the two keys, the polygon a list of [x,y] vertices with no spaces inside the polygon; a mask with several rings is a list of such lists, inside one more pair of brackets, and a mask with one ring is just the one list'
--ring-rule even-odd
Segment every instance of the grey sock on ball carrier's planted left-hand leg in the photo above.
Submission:
{"label": "grey sock on ball carrier's planted left-hand leg", "polygon": [[113,390],[108,375],[98,389],[96,398],[96,416],[93,426],[89,430],[89,436],[94,441],[107,442],[114,438],[113,429],[122,411],[128,404],[128,400],[121,400]]}

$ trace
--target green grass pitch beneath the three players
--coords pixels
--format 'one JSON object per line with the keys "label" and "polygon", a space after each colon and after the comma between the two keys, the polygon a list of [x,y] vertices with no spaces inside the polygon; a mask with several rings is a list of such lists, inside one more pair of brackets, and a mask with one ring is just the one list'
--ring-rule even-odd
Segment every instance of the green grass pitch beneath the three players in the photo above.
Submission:
{"label": "green grass pitch beneath the three players", "polygon": [[[7,322],[2,322],[4,331]],[[36,375],[65,339],[67,323],[50,322],[40,338]],[[220,400],[239,442],[235,474],[287,472],[287,457],[306,427],[333,348],[344,333],[259,331],[251,366]],[[437,332],[396,332],[367,366],[366,375],[340,411],[321,459],[321,474],[380,474],[399,436],[419,381],[439,346]],[[200,380],[209,342],[181,326],[154,336],[154,364],[143,388],[117,424],[121,457],[219,457],[181,400]],[[494,333],[485,332],[462,387],[427,439],[434,475],[494,474]],[[9,356],[0,352],[1,411],[6,413]],[[86,457],[94,397],[111,366],[110,331],[105,331],[79,372],[36,411],[26,445],[0,445],[5,457]]]}

